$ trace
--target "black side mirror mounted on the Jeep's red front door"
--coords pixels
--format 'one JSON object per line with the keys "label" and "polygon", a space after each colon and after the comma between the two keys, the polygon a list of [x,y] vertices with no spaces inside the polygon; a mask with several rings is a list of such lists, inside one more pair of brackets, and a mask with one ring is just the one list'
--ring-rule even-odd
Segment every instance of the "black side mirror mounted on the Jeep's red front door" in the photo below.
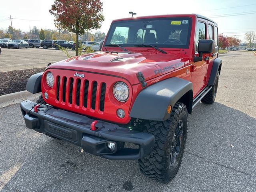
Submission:
{"label": "black side mirror mounted on the Jeep's red front door", "polygon": [[199,57],[194,57],[194,62],[202,61],[203,60],[203,53],[212,53],[215,48],[215,41],[210,39],[206,40],[199,40],[198,43],[198,50]]}

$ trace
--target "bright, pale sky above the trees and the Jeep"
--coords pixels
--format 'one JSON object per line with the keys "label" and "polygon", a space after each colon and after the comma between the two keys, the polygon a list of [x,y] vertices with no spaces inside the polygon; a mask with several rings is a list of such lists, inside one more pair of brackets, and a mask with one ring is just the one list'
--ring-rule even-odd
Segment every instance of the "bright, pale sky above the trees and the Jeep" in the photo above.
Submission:
{"label": "bright, pale sky above the trees and the Jeep", "polygon": [[[112,20],[161,14],[196,13],[214,20],[219,33],[239,37],[244,42],[246,32],[256,32],[256,1],[245,0],[102,0],[105,17],[101,32],[108,32]],[[28,32],[29,28],[56,29],[54,17],[49,13],[54,0],[0,0],[0,29],[6,30],[12,18],[12,26]],[[179,4],[180,3],[180,4]],[[95,30],[92,30],[95,32]]]}

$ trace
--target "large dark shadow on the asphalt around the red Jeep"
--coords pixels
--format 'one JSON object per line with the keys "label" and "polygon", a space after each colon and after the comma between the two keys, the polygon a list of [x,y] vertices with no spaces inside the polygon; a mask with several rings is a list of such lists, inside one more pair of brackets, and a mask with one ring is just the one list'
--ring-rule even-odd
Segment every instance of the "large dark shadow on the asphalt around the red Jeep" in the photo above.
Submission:
{"label": "large dark shadow on the asphalt around the red Jeep", "polygon": [[[256,119],[218,102],[198,104],[189,119],[184,158],[169,184],[146,178],[137,160],[93,156],[78,146],[22,127],[24,139],[30,142],[21,147],[23,150],[13,151],[13,165],[22,166],[2,191],[214,191],[223,183],[225,188],[244,191],[246,186],[237,174],[245,173],[243,178],[256,175]],[[9,168],[3,169],[7,172]],[[253,180],[246,182],[255,187]]]}

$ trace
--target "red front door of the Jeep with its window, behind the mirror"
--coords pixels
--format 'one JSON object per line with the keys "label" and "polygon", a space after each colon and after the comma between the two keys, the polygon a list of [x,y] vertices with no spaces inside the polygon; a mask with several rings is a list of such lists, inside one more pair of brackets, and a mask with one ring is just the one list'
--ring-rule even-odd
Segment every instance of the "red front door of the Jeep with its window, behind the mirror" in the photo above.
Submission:
{"label": "red front door of the Jeep with its window, behind the mirror", "polygon": [[[206,39],[206,22],[197,21],[196,24],[196,37],[195,37],[195,56],[199,56],[198,42],[199,40]],[[203,58],[206,54],[203,54]],[[192,72],[191,82],[193,84],[193,94],[196,96],[204,88],[204,76],[206,76],[207,64],[206,61],[194,62],[194,72]]]}

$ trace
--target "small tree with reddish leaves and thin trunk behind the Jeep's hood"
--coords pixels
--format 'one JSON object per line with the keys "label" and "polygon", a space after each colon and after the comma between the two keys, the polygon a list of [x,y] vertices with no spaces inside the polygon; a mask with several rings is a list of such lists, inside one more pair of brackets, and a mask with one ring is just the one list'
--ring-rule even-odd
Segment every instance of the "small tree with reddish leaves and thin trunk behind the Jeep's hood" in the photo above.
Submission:
{"label": "small tree with reddish leaves and thin trunk behind the Jeep's hood", "polygon": [[78,56],[78,36],[85,30],[101,27],[102,2],[100,0],[54,0],[49,12],[55,17],[54,24],[76,34],[76,56]]}

